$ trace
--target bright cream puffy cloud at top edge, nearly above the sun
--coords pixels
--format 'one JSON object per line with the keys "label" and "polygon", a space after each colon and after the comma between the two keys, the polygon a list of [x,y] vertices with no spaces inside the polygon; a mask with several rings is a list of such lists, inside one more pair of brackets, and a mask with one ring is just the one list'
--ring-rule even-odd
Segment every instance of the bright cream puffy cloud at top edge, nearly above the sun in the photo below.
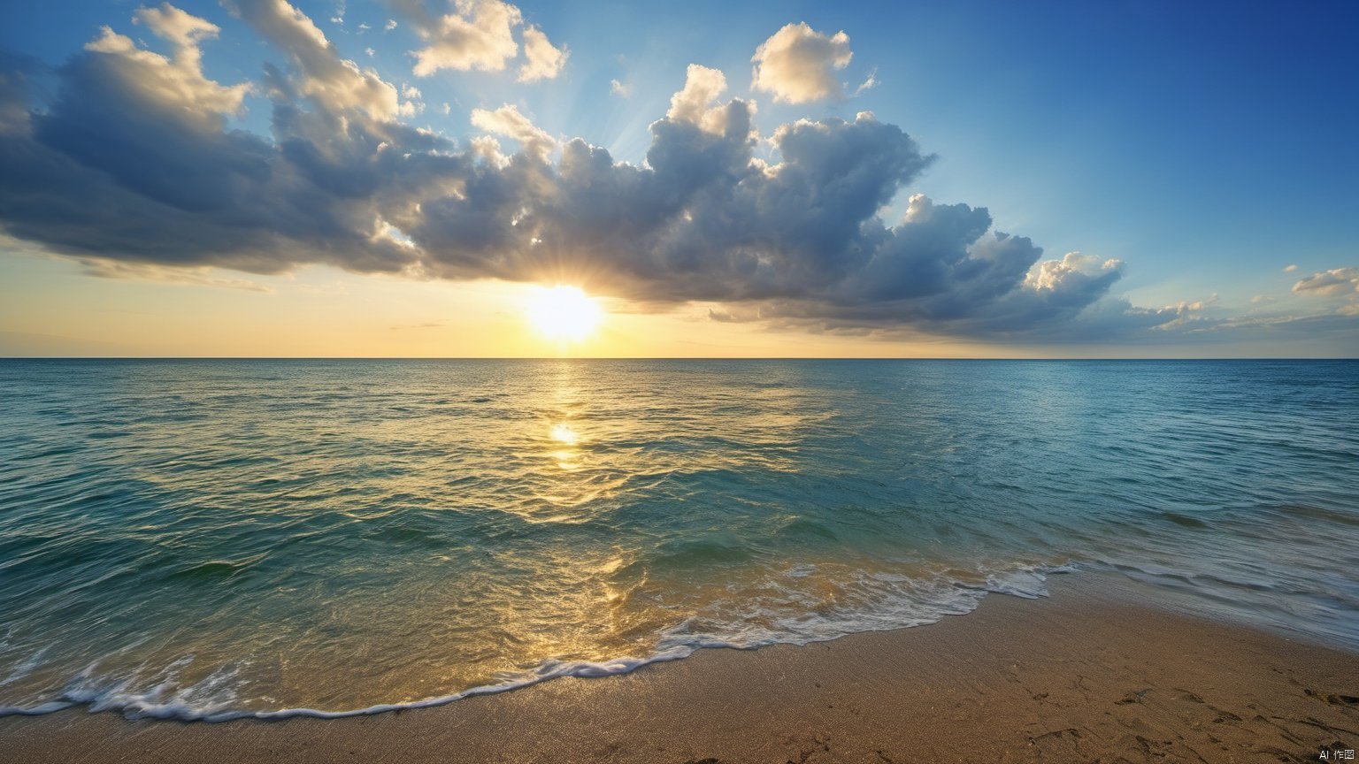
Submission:
{"label": "bright cream puffy cloud at top edge, nearly above the sun", "polygon": [[417,29],[425,46],[414,52],[417,76],[439,69],[499,72],[519,53],[514,29],[519,8],[501,0],[457,0],[455,12]]}

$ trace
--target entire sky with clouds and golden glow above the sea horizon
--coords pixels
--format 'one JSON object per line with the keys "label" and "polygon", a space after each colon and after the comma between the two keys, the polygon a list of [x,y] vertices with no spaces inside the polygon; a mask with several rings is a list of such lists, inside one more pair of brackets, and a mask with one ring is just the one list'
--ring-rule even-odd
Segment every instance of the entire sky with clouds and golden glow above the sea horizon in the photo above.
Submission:
{"label": "entire sky with clouds and golden glow above the sea horizon", "polygon": [[0,355],[1359,355],[1359,7],[885,5],[7,3]]}

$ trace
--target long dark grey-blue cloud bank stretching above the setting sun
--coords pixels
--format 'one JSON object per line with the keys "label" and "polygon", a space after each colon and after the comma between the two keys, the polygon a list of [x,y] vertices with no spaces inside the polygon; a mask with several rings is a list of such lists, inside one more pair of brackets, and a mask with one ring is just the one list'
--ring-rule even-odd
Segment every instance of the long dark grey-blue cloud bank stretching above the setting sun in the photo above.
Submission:
{"label": "long dark grey-blue cloud bank stretching above the setting sun", "polygon": [[[580,139],[560,145],[512,106],[466,144],[400,124],[397,90],[342,60],[281,0],[232,15],[287,57],[257,83],[202,75],[216,27],[169,5],[137,22],[162,56],[105,30],[58,72],[45,107],[22,67],[0,75],[0,226],[79,258],[283,272],[326,262],[421,277],[584,280],[646,303],[715,302],[719,319],[969,334],[1117,333],[1174,311],[1104,299],[1121,264],[1041,262],[984,208],[915,196],[879,211],[930,164],[870,113],[779,126],[757,158],[754,105],[720,101],[722,72],[690,67],[651,125],[647,163]],[[232,131],[247,92],[272,137]],[[1102,302],[1101,302],[1102,300]],[[1098,303],[1098,305],[1097,305]],[[1095,307],[1091,307],[1095,306]]]}

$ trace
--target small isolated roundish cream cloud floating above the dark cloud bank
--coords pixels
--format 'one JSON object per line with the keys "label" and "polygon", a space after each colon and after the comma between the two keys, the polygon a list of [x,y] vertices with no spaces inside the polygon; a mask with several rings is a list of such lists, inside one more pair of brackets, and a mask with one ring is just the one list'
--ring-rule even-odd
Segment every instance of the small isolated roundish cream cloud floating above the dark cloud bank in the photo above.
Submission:
{"label": "small isolated roundish cream cloud floating above the dark cloud bank", "polygon": [[754,63],[752,87],[772,92],[773,99],[783,103],[840,98],[844,91],[834,72],[848,67],[852,57],[849,35],[844,31],[826,35],[806,22],[787,24],[760,44],[750,58]]}

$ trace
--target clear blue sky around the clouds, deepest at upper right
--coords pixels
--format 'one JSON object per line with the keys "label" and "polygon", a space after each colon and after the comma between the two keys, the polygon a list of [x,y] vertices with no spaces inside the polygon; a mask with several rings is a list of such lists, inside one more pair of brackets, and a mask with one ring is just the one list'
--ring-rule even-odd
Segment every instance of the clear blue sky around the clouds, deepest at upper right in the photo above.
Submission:
{"label": "clear blue sky around the clouds, deepest at upper right", "polygon": [[[80,56],[82,46],[109,24],[151,50],[170,50],[145,24],[132,23],[135,3],[61,5],[7,4],[0,11],[0,49],[60,65]],[[264,42],[258,26],[239,14],[216,3],[178,7],[220,27],[215,39],[198,42],[202,75],[209,80],[260,83],[265,63],[288,69],[287,52]],[[1354,4],[1290,10],[1177,3],[522,3],[516,38],[522,42],[523,30],[537,27],[567,54],[554,76],[537,82],[516,80],[522,54],[503,71],[444,68],[417,76],[412,52],[427,45],[428,35],[419,34],[412,7],[296,4],[338,57],[371,67],[401,92],[417,88],[419,95],[402,97],[410,106],[398,120],[446,136],[453,145],[465,147],[484,132],[469,121],[474,109],[508,105],[556,141],[552,163],[560,162],[567,140],[582,137],[606,148],[613,160],[643,166],[654,140],[648,125],[665,117],[671,97],[685,88],[686,67],[700,64],[726,75],[720,102],[754,103],[761,136],[752,150],[754,158],[779,162],[768,140],[779,125],[832,118],[855,124],[860,111],[908,133],[921,155],[935,155],[923,167],[902,170],[881,211],[889,228],[915,193],[927,194],[935,205],[984,207],[992,230],[1031,239],[1042,247],[1042,261],[1061,260],[1070,251],[1120,261],[1117,280],[1095,295],[1099,300],[1117,298],[1157,310],[1178,305],[1181,324],[1234,326],[1230,340],[1222,333],[1174,340],[1205,344],[1204,353],[1226,341],[1235,355],[1249,355],[1253,329],[1239,325],[1249,317],[1267,317],[1276,325],[1313,321],[1316,326],[1302,330],[1299,325],[1298,332],[1309,353],[1354,355],[1359,349],[1359,315],[1349,307],[1356,292],[1344,287],[1351,279],[1359,284],[1352,234],[1352,211],[1359,208],[1359,151],[1354,148],[1359,8]],[[451,4],[423,7],[434,15],[458,12]],[[470,18],[470,7],[463,10]],[[395,29],[385,29],[389,20]],[[840,94],[780,103],[771,91],[753,87],[757,46],[798,22],[819,35],[841,30],[848,35],[848,65],[828,69],[841,83]],[[29,107],[34,113],[49,109],[64,75],[14,61],[8,65],[27,73]],[[870,77],[871,87],[855,92]],[[613,87],[614,82],[621,87]],[[264,88],[254,87],[243,98],[243,110],[230,116],[227,129],[272,136],[272,102]],[[503,143],[507,154],[516,148],[508,136]],[[12,230],[12,224],[0,226]],[[72,251],[42,237],[16,238],[24,246],[11,246],[11,260],[30,257],[20,249],[53,253],[58,260],[147,260],[116,247],[101,254],[82,245],[86,249]],[[425,246],[419,237],[417,242]],[[231,258],[193,261],[204,264],[239,269]],[[18,279],[31,266],[8,262],[4,268]],[[504,279],[506,273],[444,275],[451,280],[467,276]],[[1309,276],[1317,276],[1324,288],[1294,288]],[[938,311],[925,311],[934,318],[921,321],[915,309],[875,309],[872,318],[864,318],[863,311],[845,310],[853,299],[843,291],[726,294],[637,284],[617,291],[620,299],[652,306],[648,311],[711,305],[716,306],[709,307],[711,315],[749,318],[772,332],[867,330],[892,341],[886,325],[940,336],[961,326],[938,319]],[[783,300],[783,307],[768,302],[773,299]],[[788,300],[802,300],[803,307],[787,309]],[[756,303],[764,307],[750,310]],[[836,307],[807,309],[811,303]],[[1193,303],[1199,307],[1185,313],[1182,306]],[[885,319],[889,313],[896,318]],[[810,314],[828,324],[809,325],[803,319]],[[0,314],[4,318],[12,317]],[[1091,332],[1078,334],[1091,343],[1148,343]],[[1002,337],[993,324],[968,325],[958,333],[1034,347],[1057,341]]]}

